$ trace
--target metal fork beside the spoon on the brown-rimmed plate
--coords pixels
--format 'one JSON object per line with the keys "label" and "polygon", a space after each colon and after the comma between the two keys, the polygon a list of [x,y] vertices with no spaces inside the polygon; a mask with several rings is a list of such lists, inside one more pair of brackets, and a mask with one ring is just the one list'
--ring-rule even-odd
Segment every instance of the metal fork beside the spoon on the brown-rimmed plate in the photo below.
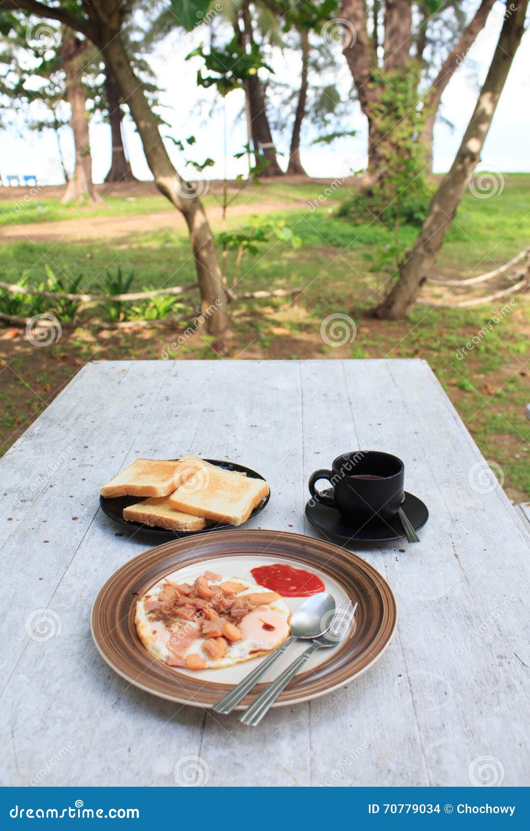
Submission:
{"label": "metal fork beside the spoon on the brown-rimmed plate", "polygon": [[295,661],[292,661],[292,664],[287,666],[287,669],[263,690],[256,701],[253,701],[247,710],[243,712],[243,715],[239,716],[242,724],[251,727],[258,725],[282,690],[285,689],[289,681],[297,674],[297,671],[304,666],[313,652],[321,649],[321,647],[336,647],[343,640],[346,632],[350,628],[356,608],[357,604],[352,607],[351,601],[343,600],[341,602],[326,632],[314,638],[311,647],[305,652],[302,652],[302,655],[298,656]]}

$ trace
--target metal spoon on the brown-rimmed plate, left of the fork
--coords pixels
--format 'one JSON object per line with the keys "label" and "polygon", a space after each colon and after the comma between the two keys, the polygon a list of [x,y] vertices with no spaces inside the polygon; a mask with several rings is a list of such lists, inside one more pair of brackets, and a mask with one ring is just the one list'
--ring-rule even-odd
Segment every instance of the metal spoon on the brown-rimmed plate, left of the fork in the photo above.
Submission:
{"label": "metal spoon on the brown-rimmed plate, left of the fork", "polygon": [[213,711],[216,713],[231,713],[239,701],[250,692],[260,678],[271,668],[272,664],[283,655],[283,653],[297,640],[297,637],[313,638],[326,632],[335,613],[335,598],[329,592],[321,592],[307,597],[299,606],[291,618],[291,634],[280,647],[273,650],[264,661],[259,664],[243,681],[234,686],[216,705]]}

